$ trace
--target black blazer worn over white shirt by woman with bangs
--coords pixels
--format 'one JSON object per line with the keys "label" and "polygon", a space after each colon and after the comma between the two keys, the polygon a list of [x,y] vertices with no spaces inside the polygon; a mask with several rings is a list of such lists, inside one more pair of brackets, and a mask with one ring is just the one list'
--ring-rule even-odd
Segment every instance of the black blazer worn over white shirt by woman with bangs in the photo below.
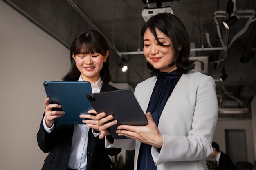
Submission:
{"label": "black blazer worn over white shirt by woman with bangs", "polygon": [[[103,83],[101,92],[117,90],[117,88]],[[43,117],[45,113],[43,114]],[[42,170],[67,170],[70,158],[74,125],[55,124],[51,133],[43,127],[43,119],[37,133],[37,142],[40,149],[48,153]],[[111,136],[108,136],[108,138]],[[111,170],[112,161],[108,155],[117,155],[121,148],[108,148],[104,146],[104,139],[94,137],[92,129],[89,130],[87,146],[87,170]]]}

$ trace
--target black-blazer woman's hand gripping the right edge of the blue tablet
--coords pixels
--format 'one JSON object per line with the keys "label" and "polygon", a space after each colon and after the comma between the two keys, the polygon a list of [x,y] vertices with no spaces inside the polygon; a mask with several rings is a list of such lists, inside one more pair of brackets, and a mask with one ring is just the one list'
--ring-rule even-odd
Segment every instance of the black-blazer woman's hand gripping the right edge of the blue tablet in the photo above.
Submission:
{"label": "black-blazer woman's hand gripping the right edge of the blue tablet", "polygon": [[[83,123],[94,130],[94,133],[99,133],[98,120],[95,119],[97,112],[95,110],[89,110],[88,114],[81,114],[79,117],[84,118]],[[95,130],[97,132],[95,132]]]}

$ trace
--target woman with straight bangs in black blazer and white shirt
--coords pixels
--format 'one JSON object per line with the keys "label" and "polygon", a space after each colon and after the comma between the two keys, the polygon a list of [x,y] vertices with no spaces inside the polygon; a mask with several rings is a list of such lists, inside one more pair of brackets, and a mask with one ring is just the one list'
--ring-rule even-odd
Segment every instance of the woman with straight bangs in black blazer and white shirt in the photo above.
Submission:
{"label": "woman with straight bangs in black blazer and white shirt", "polygon": [[[70,48],[71,68],[63,81],[88,81],[92,93],[117,90],[109,85],[112,77],[109,69],[109,48],[106,39],[98,31],[89,30],[80,33]],[[82,103],[81,103],[82,104]],[[98,121],[95,110],[80,115],[91,119],[86,124],[55,124],[54,119],[61,117],[63,111],[52,111],[61,105],[49,104],[45,99],[45,112],[37,133],[40,149],[49,153],[42,170],[111,170],[112,161],[108,155],[117,155],[120,148],[104,147],[104,139],[99,139]],[[85,120],[83,120],[84,122]],[[84,122],[85,123],[85,122]],[[109,140],[114,140],[108,135]]]}

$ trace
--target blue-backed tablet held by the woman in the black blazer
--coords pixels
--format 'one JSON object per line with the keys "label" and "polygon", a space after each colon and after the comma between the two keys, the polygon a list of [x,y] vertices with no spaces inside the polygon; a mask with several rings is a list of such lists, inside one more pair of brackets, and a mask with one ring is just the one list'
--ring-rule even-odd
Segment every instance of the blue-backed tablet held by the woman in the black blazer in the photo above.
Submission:
{"label": "blue-backed tablet held by the woman in the black blazer", "polygon": [[57,103],[61,108],[52,110],[65,111],[60,118],[55,119],[56,124],[84,124],[80,114],[87,114],[92,105],[86,98],[92,93],[91,84],[87,81],[45,81],[43,83],[50,103]]}

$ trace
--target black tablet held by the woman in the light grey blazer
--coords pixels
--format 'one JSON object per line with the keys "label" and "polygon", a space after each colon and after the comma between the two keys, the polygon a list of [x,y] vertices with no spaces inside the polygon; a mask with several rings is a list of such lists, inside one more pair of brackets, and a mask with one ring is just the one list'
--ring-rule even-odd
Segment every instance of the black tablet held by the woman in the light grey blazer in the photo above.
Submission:
{"label": "black tablet held by the woman in the light grey blazer", "polygon": [[125,136],[118,136],[116,133],[117,126],[121,124],[133,126],[148,124],[144,112],[130,89],[88,94],[87,98],[97,113],[112,114],[114,119],[118,121],[117,125],[108,129],[114,139],[127,139]]}

